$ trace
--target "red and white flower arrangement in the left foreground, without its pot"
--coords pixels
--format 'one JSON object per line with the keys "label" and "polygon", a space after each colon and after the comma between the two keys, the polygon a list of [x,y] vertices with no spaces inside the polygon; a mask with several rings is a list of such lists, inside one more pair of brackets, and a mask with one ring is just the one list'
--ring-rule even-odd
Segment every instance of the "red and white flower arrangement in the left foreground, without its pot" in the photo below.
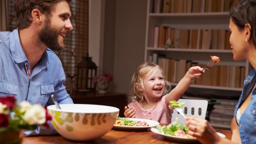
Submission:
{"label": "red and white flower arrangement in the left foreground, without its pot", "polygon": [[22,101],[16,105],[13,96],[0,97],[0,131],[35,130],[38,124],[49,128],[47,120],[51,116],[40,104]]}

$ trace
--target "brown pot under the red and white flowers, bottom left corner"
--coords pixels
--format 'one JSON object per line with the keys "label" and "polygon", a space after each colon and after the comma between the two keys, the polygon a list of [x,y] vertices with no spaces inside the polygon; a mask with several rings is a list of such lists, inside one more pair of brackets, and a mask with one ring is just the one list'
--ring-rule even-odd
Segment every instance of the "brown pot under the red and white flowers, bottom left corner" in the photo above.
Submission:
{"label": "brown pot under the red and white flowers, bottom left corner", "polygon": [[0,144],[21,144],[24,130],[7,130],[0,132]]}

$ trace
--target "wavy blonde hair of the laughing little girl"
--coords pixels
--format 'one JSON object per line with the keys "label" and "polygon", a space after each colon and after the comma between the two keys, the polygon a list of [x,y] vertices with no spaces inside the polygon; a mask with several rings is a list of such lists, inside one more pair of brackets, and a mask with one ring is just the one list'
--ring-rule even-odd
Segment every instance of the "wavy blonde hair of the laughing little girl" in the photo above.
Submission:
{"label": "wavy blonde hair of the laughing little girl", "polygon": [[137,85],[137,86],[142,88],[143,90],[145,90],[144,85],[143,85],[145,75],[148,72],[152,71],[153,69],[157,69],[157,68],[160,69],[160,71],[163,75],[164,83],[165,83],[165,89],[164,89],[163,95],[166,95],[168,93],[168,91],[171,89],[171,85],[168,81],[165,80],[162,68],[153,62],[144,62],[133,73],[133,76],[131,79],[131,87],[132,88],[131,88],[130,93],[127,95],[128,103],[130,103],[131,101],[134,101],[134,100],[141,101],[141,102],[144,101],[143,91],[140,91],[136,87],[135,84],[138,83],[139,85]]}

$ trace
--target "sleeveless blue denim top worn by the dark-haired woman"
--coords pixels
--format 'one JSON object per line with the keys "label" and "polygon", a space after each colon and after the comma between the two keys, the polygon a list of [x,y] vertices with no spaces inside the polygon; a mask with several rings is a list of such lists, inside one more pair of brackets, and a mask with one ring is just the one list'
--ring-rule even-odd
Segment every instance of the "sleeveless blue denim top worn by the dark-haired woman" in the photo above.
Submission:
{"label": "sleeveless blue denim top worn by the dark-haired woman", "polygon": [[251,90],[252,98],[239,120],[239,131],[242,144],[256,144],[256,88],[253,89],[256,77],[253,69],[244,80],[243,91],[235,109],[234,117],[236,118],[237,110],[249,96]]}

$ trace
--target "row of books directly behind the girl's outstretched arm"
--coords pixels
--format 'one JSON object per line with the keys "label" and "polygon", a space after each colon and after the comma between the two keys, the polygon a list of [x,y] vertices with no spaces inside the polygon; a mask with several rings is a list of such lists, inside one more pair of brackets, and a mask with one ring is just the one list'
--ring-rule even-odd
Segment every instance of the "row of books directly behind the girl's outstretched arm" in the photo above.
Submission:
{"label": "row of books directly behind the girl's outstretched arm", "polygon": [[[151,57],[150,57],[151,58]],[[157,58],[157,60],[155,60]],[[171,83],[178,83],[193,66],[204,68],[192,60],[165,58],[164,55],[153,54],[152,61],[157,63],[164,72],[165,78]],[[205,86],[243,87],[245,67],[232,65],[214,65],[206,70],[192,84]]]}

